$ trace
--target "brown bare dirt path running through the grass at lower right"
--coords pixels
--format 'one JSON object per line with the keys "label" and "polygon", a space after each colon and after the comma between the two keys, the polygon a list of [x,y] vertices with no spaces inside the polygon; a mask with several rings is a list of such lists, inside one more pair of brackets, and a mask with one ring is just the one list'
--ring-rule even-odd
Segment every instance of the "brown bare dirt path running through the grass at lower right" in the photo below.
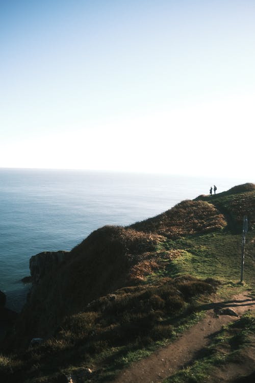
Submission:
{"label": "brown bare dirt path running through the grass at lower right", "polygon": [[187,330],[169,346],[160,349],[148,358],[143,359],[124,370],[114,380],[114,383],[156,383],[181,369],[192,361],[196,352],[209,344],[209,336],[221,329],[221,326],[235,320],[238,317],[230,315],[216,315],[218,308],[232,308],[238,315],[242,315],[248,309],[255,309],[255,299],[248,293],[243,293],[232,298],[231,301],[217,302],[205,305],[208,310],[205,319]]}

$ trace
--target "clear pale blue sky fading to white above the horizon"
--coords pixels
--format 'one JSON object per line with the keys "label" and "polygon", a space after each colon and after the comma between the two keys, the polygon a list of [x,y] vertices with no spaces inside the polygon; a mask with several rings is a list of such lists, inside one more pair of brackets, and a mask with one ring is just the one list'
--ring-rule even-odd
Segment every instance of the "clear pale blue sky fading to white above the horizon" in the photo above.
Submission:
{"label": "clear pale blue sky fading to white above the horizon", "polygon": [[0,167],[253,180],[253,0],[1,1]]}

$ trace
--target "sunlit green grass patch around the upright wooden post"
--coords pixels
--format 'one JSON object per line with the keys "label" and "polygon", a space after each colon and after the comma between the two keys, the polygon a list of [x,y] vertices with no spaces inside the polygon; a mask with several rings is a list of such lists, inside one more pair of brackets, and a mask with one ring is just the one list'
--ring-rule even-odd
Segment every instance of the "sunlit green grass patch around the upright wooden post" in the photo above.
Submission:
{"label": "sunlit green grass patch around the upright wooden post", "polygon": [[[147,280],[191,274],[197,278],[213,277],[225,285],[232,288],[236,285],[238,288],[241,273],[241,240],[241,235],[222,230],[161,243],[157,249],[161,268],[148,276]],[[171,260],[166,254],[172,249],[180,250],[180,255]],[[253,254],[252,236],[247,236],[244,281],[251,288],[255,286]]]}

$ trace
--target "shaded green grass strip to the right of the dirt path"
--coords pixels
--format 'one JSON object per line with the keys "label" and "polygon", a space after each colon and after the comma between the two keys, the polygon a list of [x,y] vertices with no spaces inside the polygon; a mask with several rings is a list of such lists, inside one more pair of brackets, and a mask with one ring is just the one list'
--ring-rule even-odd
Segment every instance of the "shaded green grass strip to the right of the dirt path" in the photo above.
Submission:
{"label": "shaded green grass strip to the right of the dirt path", "polygon": [[[204,383],[213,369],[228,362],[240,361],[240,351],[250,345],[255,331],[255,315],[246,313],[238,321],[223,326],[208,347],[189,366],[164,379],[163,383]],[[254,342],[254,340],[253,340]]]}

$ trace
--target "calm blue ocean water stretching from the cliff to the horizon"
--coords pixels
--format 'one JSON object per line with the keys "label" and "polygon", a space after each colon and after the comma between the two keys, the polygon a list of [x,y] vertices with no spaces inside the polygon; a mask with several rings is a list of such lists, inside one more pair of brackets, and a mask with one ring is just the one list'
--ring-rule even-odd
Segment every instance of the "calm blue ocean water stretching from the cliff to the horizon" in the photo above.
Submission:
{"label": "calm blue ocean water stretching from the cliff to the horizon", "polygon": [[0,169],[0,290],[19,310],[32,255],[71,250],[93,230],[129,225],[185,199],[251,180],[86,171]]}

